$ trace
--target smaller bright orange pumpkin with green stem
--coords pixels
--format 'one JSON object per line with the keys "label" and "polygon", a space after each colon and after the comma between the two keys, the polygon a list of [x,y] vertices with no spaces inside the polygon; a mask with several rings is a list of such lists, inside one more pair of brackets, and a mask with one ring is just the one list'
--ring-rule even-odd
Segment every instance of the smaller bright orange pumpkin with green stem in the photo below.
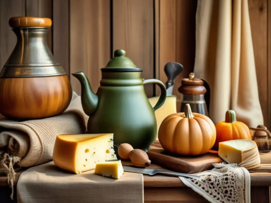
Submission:
{"label": "smaller bright orange pumpkin with green stem", "polygon": [[217,139],[215,140],[214,149],[218,150],[218,143],[228,140],[251,140],[249,127],[243,122],[236,121],[234,110],[227,110],[225,121],[215,125],[217,130]]}

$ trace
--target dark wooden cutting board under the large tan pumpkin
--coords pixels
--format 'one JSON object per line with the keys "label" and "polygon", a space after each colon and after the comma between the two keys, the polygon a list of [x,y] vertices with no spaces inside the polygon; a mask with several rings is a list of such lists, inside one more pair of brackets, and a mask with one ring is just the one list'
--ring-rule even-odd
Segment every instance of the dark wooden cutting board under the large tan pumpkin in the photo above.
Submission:
{"label": "dark wooden cutting board under the large tan pumpkin", "polygon": [[164,149],[150,149],[147,152],[151,163],[163,166],[171,171],[181,173],[198,173],[214,168],[213,163],[222,160],[217,151],[212,151],[200,156],[178,156],[166,152]]}

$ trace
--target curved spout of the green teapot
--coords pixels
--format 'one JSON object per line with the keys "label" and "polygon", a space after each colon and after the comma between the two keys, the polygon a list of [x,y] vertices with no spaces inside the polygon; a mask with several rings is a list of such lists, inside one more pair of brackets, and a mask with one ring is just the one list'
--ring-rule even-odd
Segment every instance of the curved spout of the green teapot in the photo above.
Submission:
{"label": "curved spout of the green teapot", "polygon": [[72,73],[72,75],[76,77],[81,84],[81,103],[83,111],[88,116],[92,116],[96,112],[98,106],[98,96],[93,93],[85,73],[78,72]]}

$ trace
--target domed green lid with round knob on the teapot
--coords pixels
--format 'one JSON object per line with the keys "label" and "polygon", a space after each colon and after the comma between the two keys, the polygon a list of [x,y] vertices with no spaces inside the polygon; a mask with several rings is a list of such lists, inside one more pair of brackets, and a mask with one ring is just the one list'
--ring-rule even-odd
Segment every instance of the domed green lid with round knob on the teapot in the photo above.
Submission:
{"label": "domed green lid with round knob on the teapot", "polygon": [[122,49],[114,51],[114,57],[108,62],[105,68],[101,68],[102,72],[142,72],[137,68],[133,61],[126,57],[126,52]]}

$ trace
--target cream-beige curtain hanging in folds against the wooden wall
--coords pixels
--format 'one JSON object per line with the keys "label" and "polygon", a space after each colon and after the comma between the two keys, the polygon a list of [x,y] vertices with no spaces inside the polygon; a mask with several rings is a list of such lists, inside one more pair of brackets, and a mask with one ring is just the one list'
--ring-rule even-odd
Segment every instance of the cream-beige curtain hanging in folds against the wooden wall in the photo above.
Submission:
{"label": "cream-beige curtain hanging in folds against the wooden wall", "polygon": [[247,0],[198,0],[194,72],[210,86],[214,123],[233,109],[237,120],[263,124]]}

